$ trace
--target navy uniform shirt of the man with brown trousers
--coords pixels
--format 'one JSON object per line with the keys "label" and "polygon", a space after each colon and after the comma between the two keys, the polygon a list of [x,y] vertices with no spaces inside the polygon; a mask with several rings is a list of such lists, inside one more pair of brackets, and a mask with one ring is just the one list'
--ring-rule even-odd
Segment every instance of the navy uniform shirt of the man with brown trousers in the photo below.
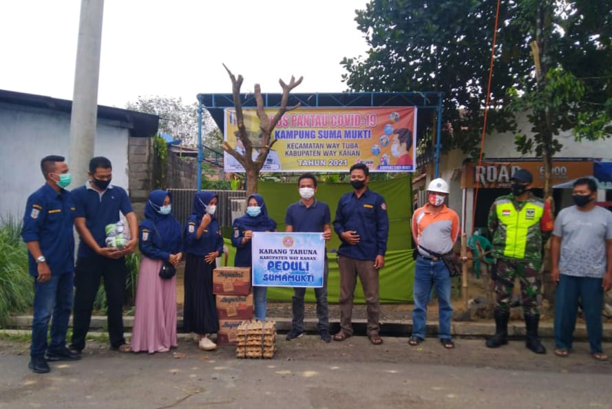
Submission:
{"label": "navy uniform shirt of the man with brown trousers", "polygon": [[361,198],[357,198],[355,191],[342,195],[333,224],[338,236],[344,231],[359,234],[356,245],[340,239],[339,254],[357,260],[375,260],[377,255],[385,255],[389,218],[385,200],[378,193],[366,189]]}

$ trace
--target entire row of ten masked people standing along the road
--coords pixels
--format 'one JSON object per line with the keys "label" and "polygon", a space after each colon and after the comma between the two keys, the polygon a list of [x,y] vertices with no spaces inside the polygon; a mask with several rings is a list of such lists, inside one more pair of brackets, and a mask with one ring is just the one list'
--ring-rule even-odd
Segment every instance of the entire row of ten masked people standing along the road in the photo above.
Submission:
{"label": "entire row of ten masked people standing along the road", "polygon": [[[184,331],[196,334],[203,350],[216,348],[208,335],[219,329],[213,295],[212,271],[223,251],[223,238],[215,211],[218,197],[200,191],[193,198],[192,214],[185,227],[172,216],[171,193],[156,190],[149,194],[145,220],[140,223],[125,189],[111,185],[112,165],[104,157],[89,162],[89,180],[72,192],[65,188],[71,177],[62,156],[41,160],[45,185],[28,198],[22,237],[29,250],[29,269],[34,277],[34,318],[30,369],[47,373],[47,361],[81,358],[89,331],[94,298],[101,280],[107,296],[110,346],[121,352],[165,352],[177,346],[176,276],[160,277],[163,264],[176,266],[185,260]],[[328,260],[325,258],[324,286],[315,289],[318,328],[321,339],[341,342],[352,336],[352,304],[357,277],[363,286],[368,315],[368,338],[383,343],[379,335],[379,270],[385,264],[389,220],[382,196],[368,189],[368,167],[350,167],[353,190],[341,196],[335,220],[331,222],[328,204],[315,198],[317,178],[303,174],[298,179],[299,201],[291,204],[285,216],[288,232],[320,232],[330,240],[332,225],[341,240],[338,253],[340,277],[340,331],[328,331]],[[514,280],[521,285],[527,327],[527,348],[545,353],[538,339],[539,269],[542,245],[552,231],[552,275],[558,280],[555,353],[567,356],[576,322],[578,299],[587,319],[591,353],[606,359],[602,352],[600,308],[603,291],[612,288],[612,213],[594,204],[597,187],[591,179],[574,185],[575,207],[561,211],[553,226],[542,222],[545,203],[529,190],[533,182],[528,171],[519,169],[511,177],[511,194],[498,198],[489,213],[489,233],[493,238],[494,289],[496,292],[496,334],[487,340],[489,348],[507,344],[509,301]],[[416,258],[414,273],[412,346],[425,339],[427,304],[432,289],[439,301],[439,340],[454,348],[450,334],[452,304],[451,279],[443,256],[452,251],[459,232],[458,215],[445,202],[450,189],[445,180],[432,180],[428,203],[412,217]],[[124,247],[106,247],[105,227],[118,222],[120,213],[127,220],[129,239]],[[74,264],[76,227],[81,242]],[[246,213],[233,222],[231,242],[236,247],[235,266],[251,266],[254,232],[276,231],[277,223],[268,216],[262,196],[247,198]],[[125,255],[139,246],[143,254],[138,275],[136,314],[131,344],[123,337],[123,300],[127,266]],[[585,262],[588,264],[585,264]],[[304,333],[304,293],[293,295],[293,341]],[[74,300],[73,300],[74,294]],[[256,319],[266,318],[266,287],[253,287]],[[72,342],[66,346],[68,319],[74,304]],[[47,332],[50,318],[51,342]]]}

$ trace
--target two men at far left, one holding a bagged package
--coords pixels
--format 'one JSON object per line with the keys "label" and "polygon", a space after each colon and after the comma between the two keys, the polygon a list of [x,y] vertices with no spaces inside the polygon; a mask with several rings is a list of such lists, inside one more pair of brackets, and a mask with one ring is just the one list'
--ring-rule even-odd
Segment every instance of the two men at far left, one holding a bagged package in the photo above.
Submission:
{"label": "two men at far left, one holding a bagged package", "polygon": [[[81,359],[100,281],[104,280],[110,346],[129,350],[123,337],[125,255],[138,245],[138,222],[125,189],[111,185],[112,165],[103,157],[89,161],[89,179],[72,191],[72,177],[63,156],[41,160],[45,185],[25,205],[21,236],[29,250],[34,277],[34,317],[30,369],[48,373],[47,361]],[[127,220],[127,241],[121,248],[106,246],[108,224]],[[73,225],[81,238],[74,263]],[[70,312],[72,342],[66,346]],[[51,342],[47,342],[49,321]]]}

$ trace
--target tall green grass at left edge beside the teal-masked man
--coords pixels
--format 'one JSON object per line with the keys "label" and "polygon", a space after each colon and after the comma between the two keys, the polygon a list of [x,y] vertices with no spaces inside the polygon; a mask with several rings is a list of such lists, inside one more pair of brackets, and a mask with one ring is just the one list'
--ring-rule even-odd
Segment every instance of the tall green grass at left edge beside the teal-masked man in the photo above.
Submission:
{"label": "tall green grass at left edge beside the teal-masked man", "polygon": [[34,281],[28,273],[28,248],[21,240],[21,222],[0,218],[0,326],[12,313],[32,307]]}

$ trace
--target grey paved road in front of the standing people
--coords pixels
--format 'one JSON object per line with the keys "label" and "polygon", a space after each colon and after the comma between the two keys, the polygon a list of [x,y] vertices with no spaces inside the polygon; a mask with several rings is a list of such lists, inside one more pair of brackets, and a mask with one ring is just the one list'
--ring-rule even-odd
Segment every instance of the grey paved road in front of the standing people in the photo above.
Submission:
{"label": "grey paved road in front of the standing people", "polygon": [[498,350],[482,339],[458,339],[455,350],[406,341],[279,335],[268,360],[236,359],[230,347],[203,353],[187,340],[182,358],[92,343],[47,375],[28,370],[28,344],[3,341],[0,408],[612,408],[612,362],[592,359],[586,344],[558,358],[518,341]]}

